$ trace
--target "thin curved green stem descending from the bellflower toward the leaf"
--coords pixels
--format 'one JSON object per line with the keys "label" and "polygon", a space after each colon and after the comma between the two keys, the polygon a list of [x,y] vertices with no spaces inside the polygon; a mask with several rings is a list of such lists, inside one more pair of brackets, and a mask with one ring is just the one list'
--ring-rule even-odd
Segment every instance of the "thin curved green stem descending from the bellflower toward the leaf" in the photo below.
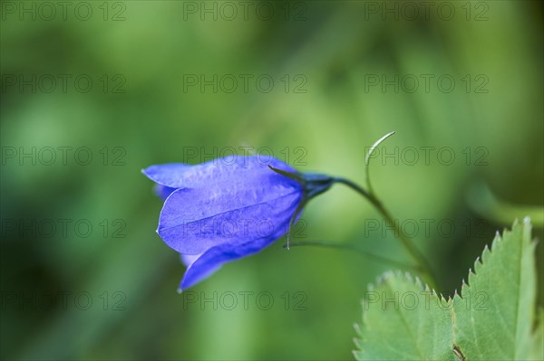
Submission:
{"label": "thin curved green stem descending from the bellflower toward the leaf", "polygon": [[406,237],[406,235],[403,233],[403,231],[399,227],[398,223],[394,222],[393,216],[387,211],[387,209],[384,207],[384,204],[382,204],[382,202],[380,202],[380,200],[376,198],[374,193],[367,192],[366,190],[364,190],[363,187],[355,184],[349,179],[336,177],[335,183],[340,183],[340,184],[349,186],[350,188],[355,190],[355,192],[359,193],[360,195],[363,195],[366,199],[368,199],[368,201],[371,204],[374,205],[374,207],[376,207],[378,212],[384,216],[385,221],[389,223],[389,225],[393,227],[395,233],[399,235],[399,240],[403,243],[404,248],[413,258],[413,261],[416,261],[419,265],[421,265],[422,273],[428,277],[428,281],[429,283],[431,283],[430,286],[433,289],[436,289],[438,286],[438,283],[433,276],[429,261],[427,261],[427,259],[423,256],[423,254],[419,252],[417,248],[415,248],[412,242],[410,242],[408,237]]}

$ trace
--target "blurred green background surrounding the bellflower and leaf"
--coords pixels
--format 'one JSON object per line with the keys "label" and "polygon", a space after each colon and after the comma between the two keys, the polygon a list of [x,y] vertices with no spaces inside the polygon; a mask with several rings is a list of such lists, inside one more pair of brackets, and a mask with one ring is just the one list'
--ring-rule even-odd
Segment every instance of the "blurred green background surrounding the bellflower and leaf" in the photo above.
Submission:
{"label": "blurred green background surrounding the bellflower and leaf", "polygon": [[[362,184],[395,130],[374,188],[442,292],[514,218],[542,237],[540,2],[0,4],[3,359],[352,359],[389,265],[282,239],[178,295],[153,164],[253,147]],[[408,260],[340,185],[303,219],[294,241]]]}

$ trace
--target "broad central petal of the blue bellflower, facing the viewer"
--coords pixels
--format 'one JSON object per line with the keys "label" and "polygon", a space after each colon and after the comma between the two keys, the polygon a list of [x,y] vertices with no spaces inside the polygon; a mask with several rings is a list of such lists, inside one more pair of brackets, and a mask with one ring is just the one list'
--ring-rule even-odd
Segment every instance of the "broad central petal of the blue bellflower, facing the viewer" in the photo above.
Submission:
{"label": "broad central petal of the blue bellflower, facing the viewer", "polygon": [[302,187],[268,169],[248,183],[174,191],[160,212],[157,233],[182,254],[223,243],[240,244],[287,232],[284,223],[302,199]]}

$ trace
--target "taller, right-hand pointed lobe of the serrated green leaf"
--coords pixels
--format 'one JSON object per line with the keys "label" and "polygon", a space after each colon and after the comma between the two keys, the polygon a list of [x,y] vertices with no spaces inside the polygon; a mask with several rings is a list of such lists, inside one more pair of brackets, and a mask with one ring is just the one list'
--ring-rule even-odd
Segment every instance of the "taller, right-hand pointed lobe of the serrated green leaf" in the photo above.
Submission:
{"label": "taller, right-hand pointed lobe of the serrated green leaf", "polygon": [[453,298],[453,338],[469,360],[527,360],[536,301],[530,223],[497,234]]}

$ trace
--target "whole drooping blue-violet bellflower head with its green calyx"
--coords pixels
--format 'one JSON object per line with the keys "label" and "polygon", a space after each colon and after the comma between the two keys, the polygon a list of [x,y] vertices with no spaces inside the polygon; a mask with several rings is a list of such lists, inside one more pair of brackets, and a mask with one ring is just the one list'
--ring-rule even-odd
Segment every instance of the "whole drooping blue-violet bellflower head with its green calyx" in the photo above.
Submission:
{"label": "whole drooping blue-violet bellflower head with its green calyx", "polygon": [[332,185],[328,176],[305,176],[265,156],[150,166],[142,173],[165,201],[157,233],[187,265],[180,291],[276,241],[306,201]]}

